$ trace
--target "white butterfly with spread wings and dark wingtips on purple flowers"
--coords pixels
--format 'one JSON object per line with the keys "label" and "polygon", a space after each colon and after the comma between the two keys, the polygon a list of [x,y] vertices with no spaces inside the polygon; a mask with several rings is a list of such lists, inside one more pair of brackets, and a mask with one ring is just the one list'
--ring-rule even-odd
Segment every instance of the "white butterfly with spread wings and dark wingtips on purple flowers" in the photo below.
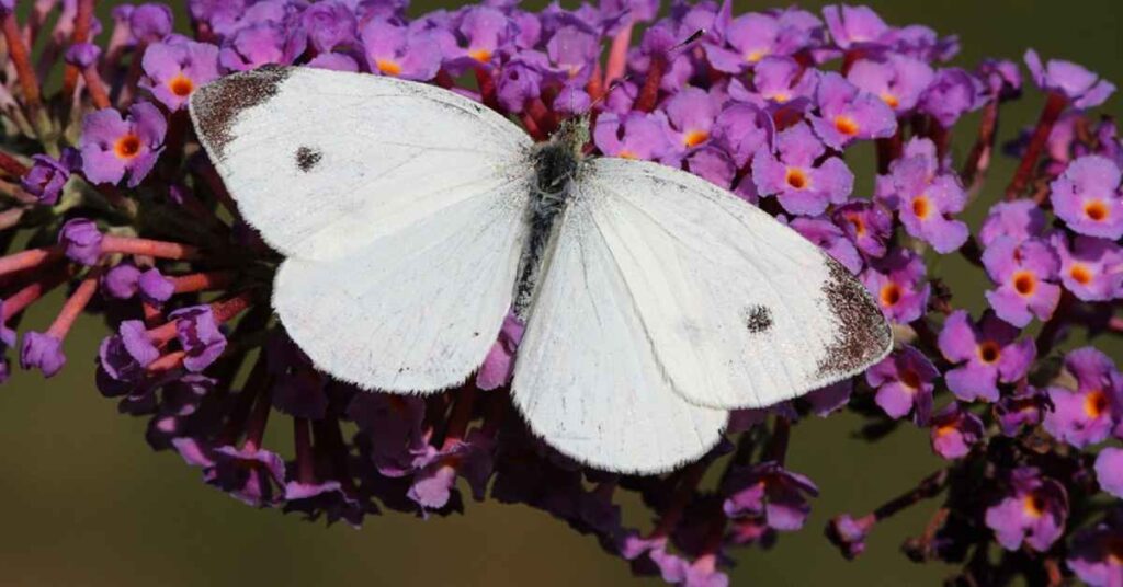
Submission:
{"label": "white butterfly with spread wings and dark wingtips on purple flowers", "polygon": [[658,473],[728,411],[849,377],[892,337],[866,290],[795,231],[655,163],[535,145],[454,92],[271,67],[191,98],[246,220],[286,259],[273,306],[318,368],[432,393],[481,365],[512,304],[511,392],[579,461]]}

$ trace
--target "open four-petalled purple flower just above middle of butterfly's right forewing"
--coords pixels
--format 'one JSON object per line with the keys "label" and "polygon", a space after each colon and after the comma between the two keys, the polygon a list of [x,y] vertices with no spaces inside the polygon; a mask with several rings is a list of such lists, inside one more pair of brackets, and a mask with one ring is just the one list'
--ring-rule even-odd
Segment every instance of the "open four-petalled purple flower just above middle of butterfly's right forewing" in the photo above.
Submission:
{"label": "open four-petalled purple flower just above middle of butterfly's right forewing", "polygon": [[776,137],[776,152],[760,148],[752,157],[752,181],[761,195],[776,194],[793,214],[819,215],[830,202],[842,203],[853,190],[853,174],[838,157],[827,157],[823,144],[806,123]]}

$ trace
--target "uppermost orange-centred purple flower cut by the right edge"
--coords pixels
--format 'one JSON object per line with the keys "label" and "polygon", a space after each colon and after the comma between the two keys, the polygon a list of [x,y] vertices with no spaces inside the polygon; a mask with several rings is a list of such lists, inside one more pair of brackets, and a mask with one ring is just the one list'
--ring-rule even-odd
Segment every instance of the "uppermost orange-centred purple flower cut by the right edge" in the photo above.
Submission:
{"label": "uppermost orange-centred purple flower cut by the right edge", "polygon": [[1069,164],[1050,184],[1053,211],[1069,228],[1089,237],[1123,237],[1123,194],[1120,168],[1099,155]]}

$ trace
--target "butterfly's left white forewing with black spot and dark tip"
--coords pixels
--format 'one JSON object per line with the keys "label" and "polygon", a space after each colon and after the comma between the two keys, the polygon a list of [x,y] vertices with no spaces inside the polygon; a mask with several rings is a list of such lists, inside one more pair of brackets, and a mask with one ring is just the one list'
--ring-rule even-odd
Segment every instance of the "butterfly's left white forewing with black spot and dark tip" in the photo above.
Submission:
{"label": "butterfly's left white forewing with black spot and dark tip", "polygon": [[222,77],[191,117],[238,210],[289,257],[329,259],[526,174],[530,138],[432,85],[310,67]]}

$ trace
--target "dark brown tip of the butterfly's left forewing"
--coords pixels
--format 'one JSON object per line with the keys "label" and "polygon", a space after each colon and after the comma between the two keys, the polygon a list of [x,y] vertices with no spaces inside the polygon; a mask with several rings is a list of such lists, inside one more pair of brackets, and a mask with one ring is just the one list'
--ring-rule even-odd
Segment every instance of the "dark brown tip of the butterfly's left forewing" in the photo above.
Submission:
{"label": "dark brown tip of the butterfly's left forewing", "polygon": [[226,146],[234,139],[230,132],[238,114],[276,95],[291,73],[292,67],[266,65],[221,77],[192,94],[195,130],[216,157],[221,159]]}

